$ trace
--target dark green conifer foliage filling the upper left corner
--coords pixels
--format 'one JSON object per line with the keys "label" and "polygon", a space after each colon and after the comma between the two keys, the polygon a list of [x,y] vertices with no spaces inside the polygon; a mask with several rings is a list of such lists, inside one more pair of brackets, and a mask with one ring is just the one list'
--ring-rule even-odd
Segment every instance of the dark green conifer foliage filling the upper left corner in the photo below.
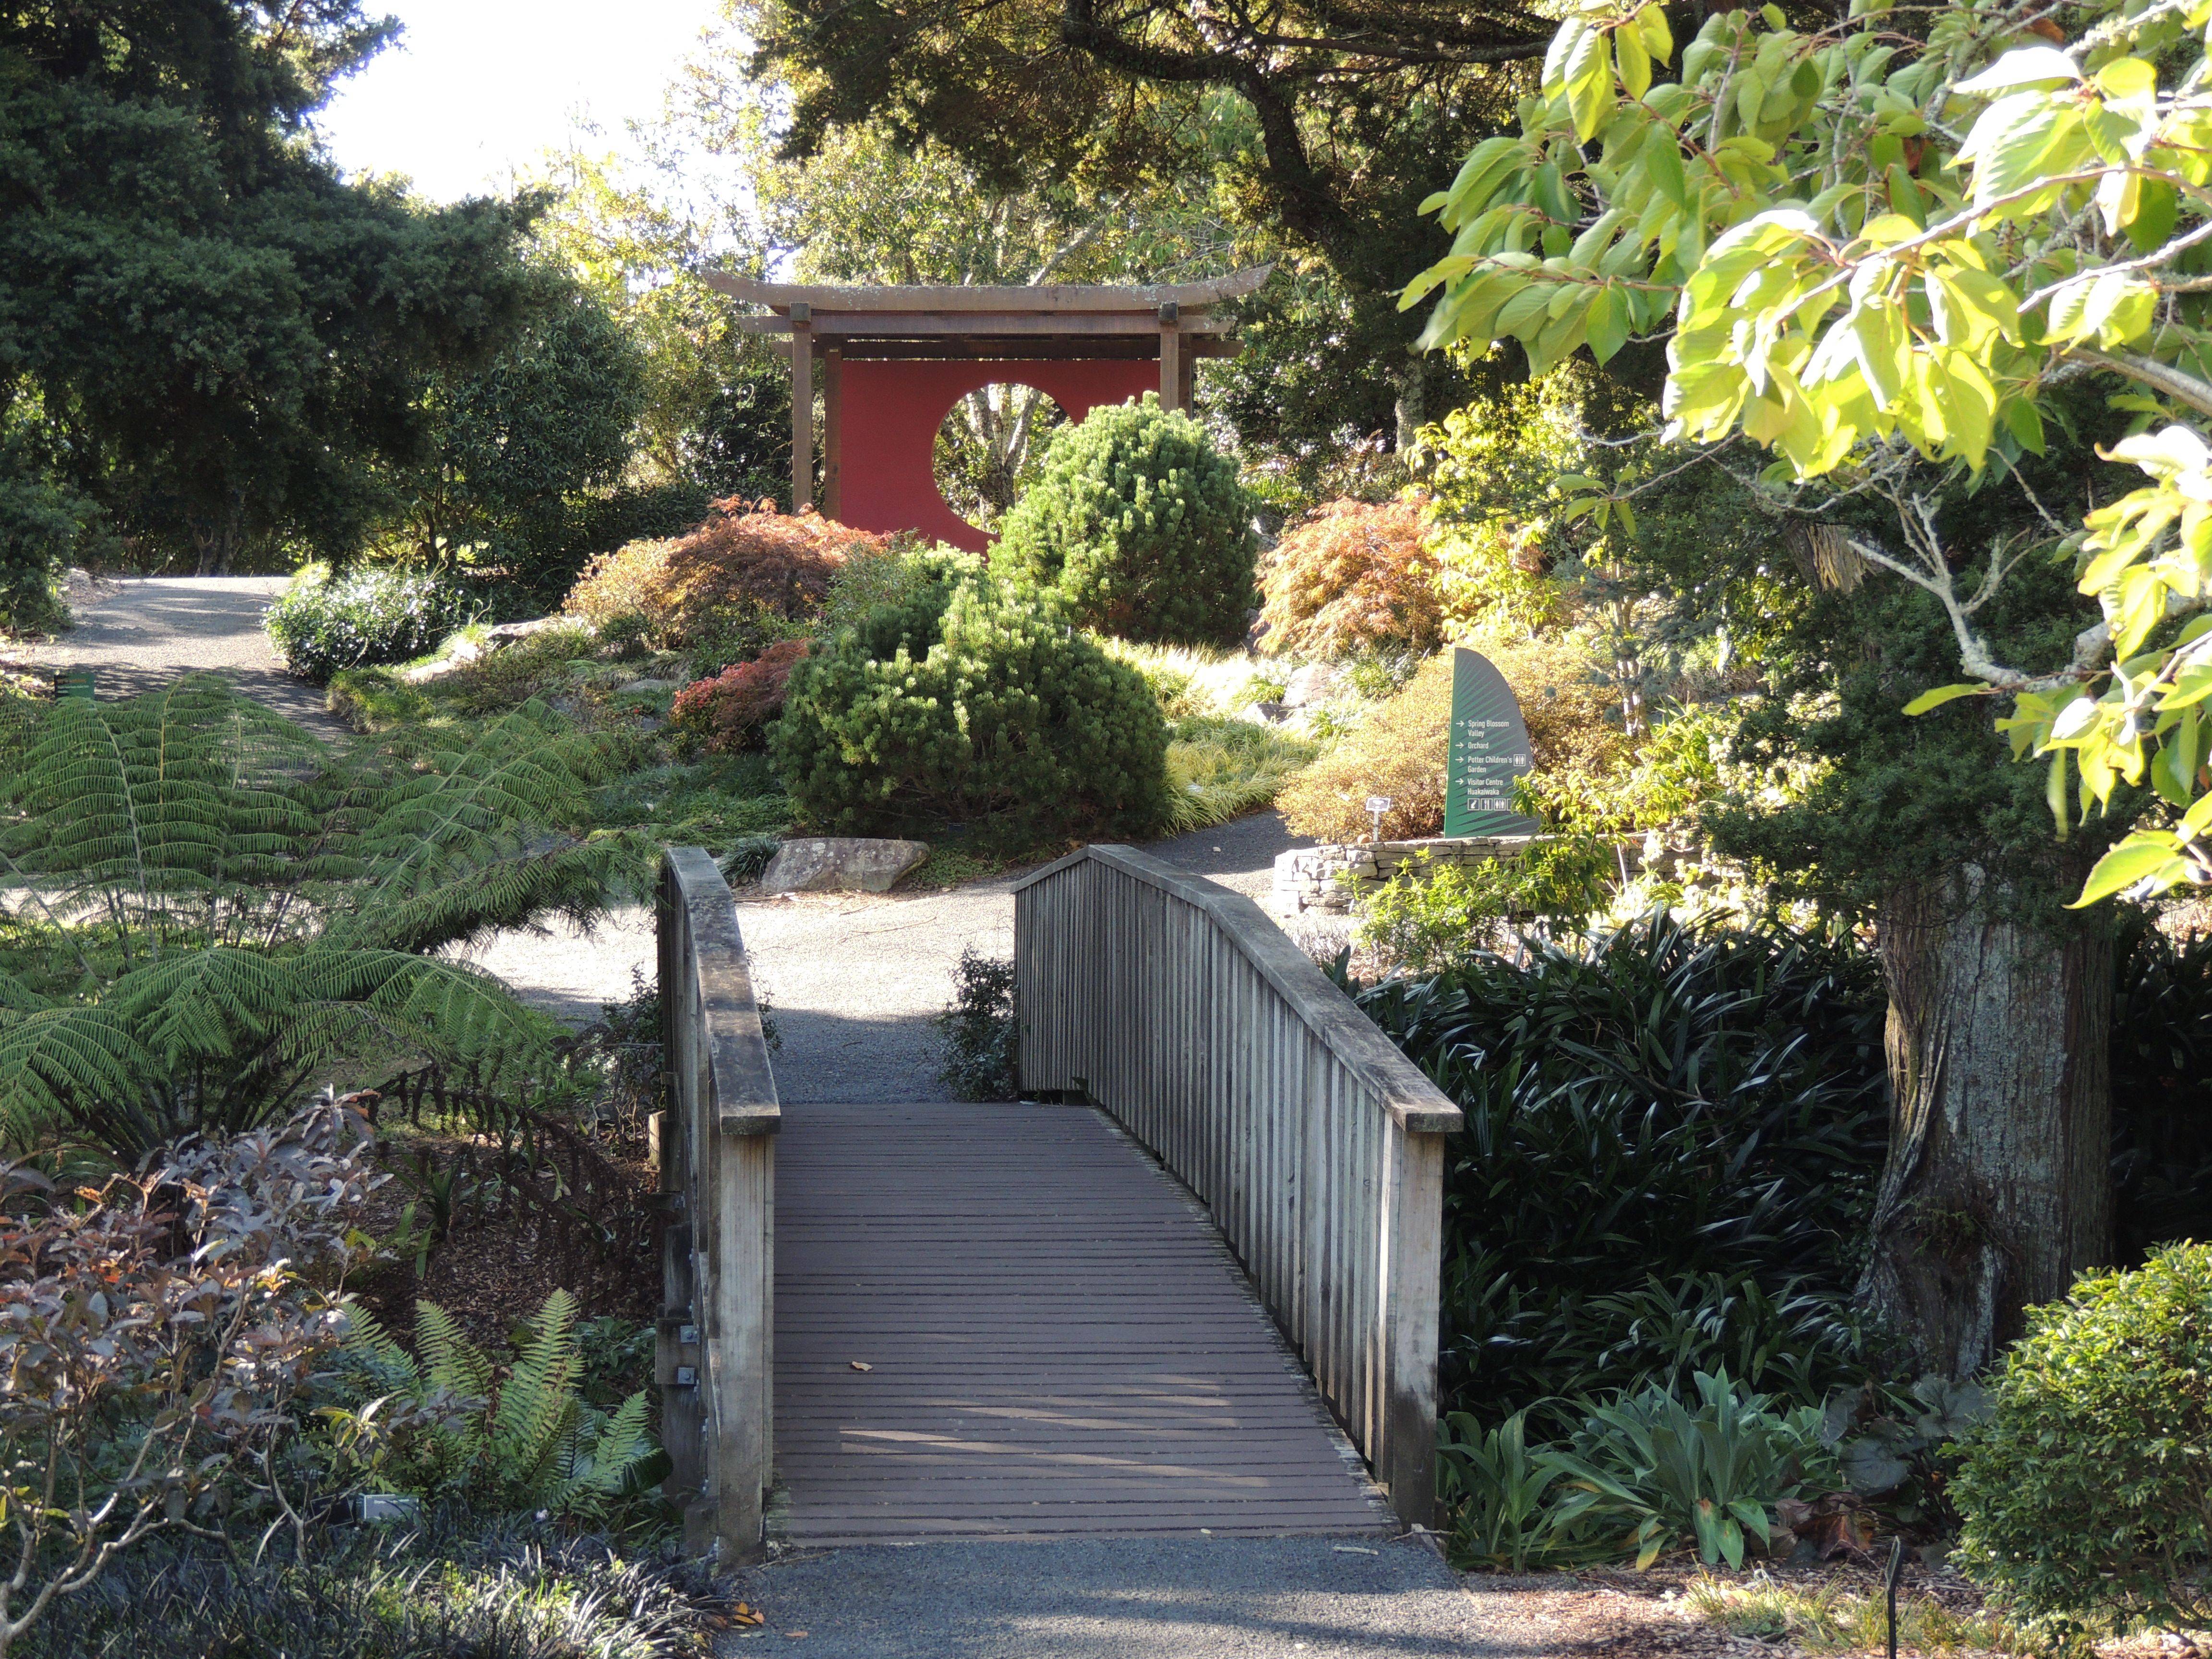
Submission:
{"label": "dark green conifer foliage filling the upper left corner", "polygon": [[378,462],[425,445],[427,376],[502,341],[529,206],[429,210],[345,181],[307,133],[394,33],[358,0],[0,7],[0,555],[22,584],[97,522],[199,571],[352,551]]}

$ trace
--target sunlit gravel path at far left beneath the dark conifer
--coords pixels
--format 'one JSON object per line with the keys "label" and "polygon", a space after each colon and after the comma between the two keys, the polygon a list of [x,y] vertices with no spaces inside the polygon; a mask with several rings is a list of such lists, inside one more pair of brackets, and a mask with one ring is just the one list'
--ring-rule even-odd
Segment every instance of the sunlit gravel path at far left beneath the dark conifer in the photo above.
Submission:
{"label": "sunlit gravel path at far left beneath the dark conifer", "polygon": [[91,606],[77,626],[13,657],[40,668],[91,668],[100,697],[135,697],[177,675],[215,668],[254,701],[321,737],[345,737],[345,723],[323,708],[323,692],[285,672],[261,613],[292,582],[288,575],[146,575],[126,577]]}

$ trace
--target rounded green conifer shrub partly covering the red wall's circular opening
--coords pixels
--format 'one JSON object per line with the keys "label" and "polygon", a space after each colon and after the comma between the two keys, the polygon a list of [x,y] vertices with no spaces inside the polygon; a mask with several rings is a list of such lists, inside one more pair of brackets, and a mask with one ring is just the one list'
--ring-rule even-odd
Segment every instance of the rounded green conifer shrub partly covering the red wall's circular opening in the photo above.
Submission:
{"label": "rounded green conifer shrub partly covering the red wall's circular opening", "polygon": [[1062,427],[991,568],[1055,588],[1084,628],[1139,644],[1237,644],[1256,604],[1252,500],[1206,429],[1159,398]]}

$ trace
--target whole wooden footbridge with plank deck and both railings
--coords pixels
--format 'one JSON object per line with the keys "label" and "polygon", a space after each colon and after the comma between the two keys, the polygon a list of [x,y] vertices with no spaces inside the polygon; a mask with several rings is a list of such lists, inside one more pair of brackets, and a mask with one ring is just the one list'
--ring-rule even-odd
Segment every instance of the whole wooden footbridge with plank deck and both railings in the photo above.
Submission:
{"label": "whole wooden footbridge with plank deck and both railings", "polygon": [[659,969],[697,1548],[1429,1524],[1460,1113],[1252,900],[1128,847],[1020,885],[1053,1104],[779,1106],[703,852]]}

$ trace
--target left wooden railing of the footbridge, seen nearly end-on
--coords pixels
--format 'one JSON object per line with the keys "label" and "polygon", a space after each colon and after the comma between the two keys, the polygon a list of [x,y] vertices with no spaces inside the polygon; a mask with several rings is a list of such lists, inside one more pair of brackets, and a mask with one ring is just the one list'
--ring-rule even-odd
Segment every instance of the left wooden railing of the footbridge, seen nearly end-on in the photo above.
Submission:
{"label": "left wooden railing of the footbridge, seen nearly end-on", "polygon": [[783,1106],[730,885],[670,847],[659,905],[664,1484],[686,1544],[723,1564],[763,1551],[774,1478],[776,1128]]}

